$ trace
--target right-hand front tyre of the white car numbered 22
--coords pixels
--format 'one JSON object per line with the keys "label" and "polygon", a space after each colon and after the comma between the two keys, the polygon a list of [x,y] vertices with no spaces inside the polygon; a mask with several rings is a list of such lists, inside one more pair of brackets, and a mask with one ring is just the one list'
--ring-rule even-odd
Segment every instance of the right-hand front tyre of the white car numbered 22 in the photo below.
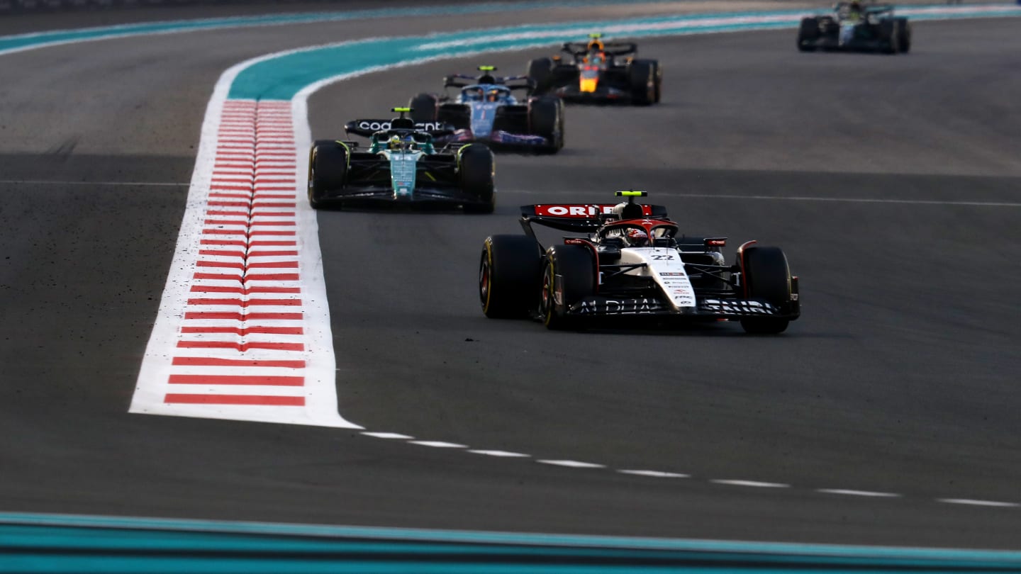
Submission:
{"label": "right-hand front tyre of the white car numbered 22", "polygon": [[[779,247],[751,246],[743,251],[741,281],[747,288],[749,299],[761,299],[775,306],[790,302],[790,268],[787,256]],[[741,320],[745,333],[773,335],[782,333],[790,323],[787,319],[772,317]]]}

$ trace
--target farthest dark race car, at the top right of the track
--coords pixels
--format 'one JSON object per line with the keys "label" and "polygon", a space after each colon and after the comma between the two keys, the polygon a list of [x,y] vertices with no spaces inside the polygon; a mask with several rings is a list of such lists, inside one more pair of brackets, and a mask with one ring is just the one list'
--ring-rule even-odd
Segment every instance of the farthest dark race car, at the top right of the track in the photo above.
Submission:
{"label": "farthest dark race car, at the top right of the track", "polygon": [[907,53],[911,25],[907,17],[893,15],[891,4],[838,2],[832,14],[801,18],[797,49]]}

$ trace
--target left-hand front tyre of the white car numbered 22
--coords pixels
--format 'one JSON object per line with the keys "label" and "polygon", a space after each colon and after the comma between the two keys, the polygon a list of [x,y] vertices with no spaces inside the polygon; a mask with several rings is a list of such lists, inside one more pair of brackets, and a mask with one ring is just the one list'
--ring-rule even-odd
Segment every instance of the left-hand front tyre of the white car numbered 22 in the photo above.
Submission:
{"label": "left-hand front tyre of the white car numbered 22", "polygon": [[[563,287],[556,301],[556,276]],[[546,250],[546,266],[542,271],[542,291],[539,312],[547,329],[567,329],[576,322],[567,309],[582,297],[595,292],[595,261],[583,245],[553,245]]]}

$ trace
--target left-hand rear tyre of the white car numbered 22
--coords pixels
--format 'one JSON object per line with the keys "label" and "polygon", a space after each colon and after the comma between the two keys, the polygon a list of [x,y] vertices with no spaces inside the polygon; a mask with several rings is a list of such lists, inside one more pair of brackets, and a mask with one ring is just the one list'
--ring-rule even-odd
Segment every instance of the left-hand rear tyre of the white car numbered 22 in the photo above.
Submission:
{"label": "left-hand rear tyre of the white car numbered 22", "polygon": [[493,235],[482,244],[479,299],[490,319],[520,319],[535,308],[542,250],[527,235]]}

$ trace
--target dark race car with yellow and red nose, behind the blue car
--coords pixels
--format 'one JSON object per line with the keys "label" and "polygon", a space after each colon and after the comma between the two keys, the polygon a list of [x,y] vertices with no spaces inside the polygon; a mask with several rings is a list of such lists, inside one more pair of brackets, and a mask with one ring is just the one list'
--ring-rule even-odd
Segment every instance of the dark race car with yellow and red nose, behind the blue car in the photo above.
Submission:
{"label": "dark race car with yellow and red nose, behind the blue car", "polygon": [[588,43],[566,42],[566,54],[536,58],[528,78],[537,94],[554,94],[570,102],[633,103],[660,101],[663,69],[659,60],[635,59],[637,44],[603,42],[590,34]]}

